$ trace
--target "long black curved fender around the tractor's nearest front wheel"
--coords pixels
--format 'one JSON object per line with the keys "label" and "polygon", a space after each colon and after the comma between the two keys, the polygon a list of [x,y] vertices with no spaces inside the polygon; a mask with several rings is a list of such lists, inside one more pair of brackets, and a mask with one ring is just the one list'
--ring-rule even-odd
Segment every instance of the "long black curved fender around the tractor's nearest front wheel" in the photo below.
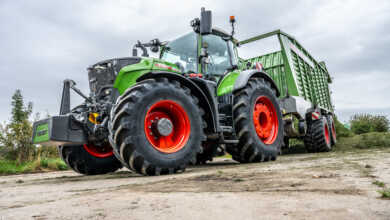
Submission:
{"label": "long black curved fender around the tractor's nearest front wheel", "polygon": [[209,90],[202,90],[195,82],[177,73],[170,72],[150,72],[140,76],[137,82],[146,79],[155,78],[168,78],[171,80],[177,80],[187,88],[191,90],[191,93],[199,99],[199,106],[205,111],[204,119],[207,123],[206,131],[209,133],[219,132],[219,121],[218,121],[218,109],[215,103],[214,97]]}

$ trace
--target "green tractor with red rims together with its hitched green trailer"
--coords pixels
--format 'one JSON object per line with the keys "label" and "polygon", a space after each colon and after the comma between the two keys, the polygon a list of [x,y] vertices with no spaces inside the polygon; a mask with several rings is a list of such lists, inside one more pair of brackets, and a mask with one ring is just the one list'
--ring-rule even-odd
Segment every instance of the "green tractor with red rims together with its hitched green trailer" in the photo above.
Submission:
{"label": "green tractor with red rims together with its hitched green trailer", "polygon": [[[59,116],[34,123],[33,143],[58,146],[67,165],[86,175],[123,166],[171,174],[225,153],[240,163],[276,160],[290,138],[303,139],[309,152],[331,150],[325,63],[279,30],[238,41],[234,16],[230,23],[230,33],[214,28],[202,8],[190,33],[138,41],[132,57],[90,66],[89,96],[65,80]],[[280,51],[239,57],[238,47],[270,36]],[[71,89],[85,99],[73,109]]]}

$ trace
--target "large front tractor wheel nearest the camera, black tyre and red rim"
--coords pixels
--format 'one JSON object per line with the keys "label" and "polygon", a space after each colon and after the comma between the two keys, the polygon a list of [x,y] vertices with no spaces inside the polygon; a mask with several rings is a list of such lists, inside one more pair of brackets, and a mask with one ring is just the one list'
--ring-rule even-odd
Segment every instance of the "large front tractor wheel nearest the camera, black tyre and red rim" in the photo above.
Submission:
{"label": "large front tractor wheel nearest the camera, black tyre and red rim", "polygon": [[197,103],[190,89],[166,78],[129,88],[112,108],[109,123],[120,159],[143,175],[184,171],[206,139]]}

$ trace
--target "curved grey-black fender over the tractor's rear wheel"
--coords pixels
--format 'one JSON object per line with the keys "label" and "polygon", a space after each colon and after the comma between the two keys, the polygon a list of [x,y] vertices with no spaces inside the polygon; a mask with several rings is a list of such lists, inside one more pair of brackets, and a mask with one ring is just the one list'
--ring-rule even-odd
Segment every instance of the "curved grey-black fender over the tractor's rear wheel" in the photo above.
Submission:
{"label": "curved grey-black fender over the tractor's rear wheel", "polygon": [[259,70],[244,70],[238,75],[234,82],[233,92],[242,89],[248,83],[249,78],[260,77],[271,83],[271,87],[276,90],[276,97],[280,96],[280,91],[274,80],[265,72]]}

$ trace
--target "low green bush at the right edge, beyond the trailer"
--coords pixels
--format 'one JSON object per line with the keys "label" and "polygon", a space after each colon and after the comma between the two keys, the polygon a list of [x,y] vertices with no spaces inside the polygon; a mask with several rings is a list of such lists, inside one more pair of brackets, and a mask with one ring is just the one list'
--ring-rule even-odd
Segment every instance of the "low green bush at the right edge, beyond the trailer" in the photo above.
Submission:
{"label": "low green bush at the right edge, beyond the trailer", "polygon": [[357,114],[350,122],[351,130],[355,134],[389,131],[389,120],[382,115]]}

